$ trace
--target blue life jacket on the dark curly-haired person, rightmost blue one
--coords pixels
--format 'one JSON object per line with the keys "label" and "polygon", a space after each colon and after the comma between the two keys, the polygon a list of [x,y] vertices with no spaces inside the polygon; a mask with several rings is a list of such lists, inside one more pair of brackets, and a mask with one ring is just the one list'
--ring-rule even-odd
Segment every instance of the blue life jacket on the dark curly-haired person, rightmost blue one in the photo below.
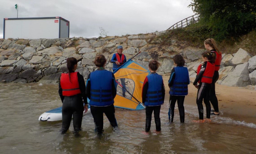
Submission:
{"label": "blue life jacket on the dark curly-haired person, rightmost blue one", "polygon": [[187,84],[189,84],[189,74],[187,67],[174,67],[175,78],[173,85],[170,88],[170,95],[184,96],[188,94]]}

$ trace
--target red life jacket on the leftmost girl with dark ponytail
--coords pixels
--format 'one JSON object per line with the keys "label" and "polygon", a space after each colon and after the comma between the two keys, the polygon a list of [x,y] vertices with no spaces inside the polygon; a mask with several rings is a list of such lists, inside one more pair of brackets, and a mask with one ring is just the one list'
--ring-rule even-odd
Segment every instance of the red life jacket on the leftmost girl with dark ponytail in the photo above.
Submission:
{"label": "red life jacket on the leftmost girl with dark ponytail", "polygon": [[68,73],[61,73],[60,83],[63,96],[73,96],[81,93],[79,89],[77,72],[70,73],[70,80]]}

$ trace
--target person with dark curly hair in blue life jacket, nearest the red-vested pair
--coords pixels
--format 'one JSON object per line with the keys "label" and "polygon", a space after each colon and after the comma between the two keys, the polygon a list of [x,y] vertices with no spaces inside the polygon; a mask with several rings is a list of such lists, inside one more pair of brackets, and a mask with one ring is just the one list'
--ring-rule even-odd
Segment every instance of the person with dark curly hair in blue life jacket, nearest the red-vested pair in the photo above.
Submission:
{"label": "person with dark curly hair in blue life jacket, nearest the red-vested pair", "polygon": [[176,67],[172,69],[170,79],[168,80],[168,86],[170,88],[168,117],[169,117],[169,121],[173,122],[174,107],[177,101],[180,122],[184,123],[185,111],[184,111],[183,104],[184,104],[185,95],[188,94],[187,85],[190,83],[189,73],[188,73],[187,67],[183,67],[185,65],[185,61],[181,55],[175,55],[173,57],[173,61]]}

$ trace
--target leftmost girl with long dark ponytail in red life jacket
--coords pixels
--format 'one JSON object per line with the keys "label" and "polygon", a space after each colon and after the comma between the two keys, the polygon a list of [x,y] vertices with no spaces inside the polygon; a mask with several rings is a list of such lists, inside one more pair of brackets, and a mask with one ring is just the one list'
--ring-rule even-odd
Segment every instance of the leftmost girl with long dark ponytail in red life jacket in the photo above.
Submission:
{"label": "leftmost girl with long dark ponytail in red life jacket", "polygon": [[59,96],[62,101],[62,134],[69,129],[72,115],[74,131],[78,133],[81,130],[83,111],[85,113],[88,110],[84,77],[79,72],[75,72],[77,59],[67,58],[67,69],[69,72],[62,73],[59,82]]}

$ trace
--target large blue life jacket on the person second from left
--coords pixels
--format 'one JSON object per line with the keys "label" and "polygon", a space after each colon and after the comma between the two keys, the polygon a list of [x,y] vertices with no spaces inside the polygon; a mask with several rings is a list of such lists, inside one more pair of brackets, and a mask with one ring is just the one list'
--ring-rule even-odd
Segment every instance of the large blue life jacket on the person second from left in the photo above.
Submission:
{"label": "large blue life jacket on the person second from left", "polygon": [[91,99],[92,106],[109,106],[114,103],[112,96],[112,72],[96,70],[91,72]]}

